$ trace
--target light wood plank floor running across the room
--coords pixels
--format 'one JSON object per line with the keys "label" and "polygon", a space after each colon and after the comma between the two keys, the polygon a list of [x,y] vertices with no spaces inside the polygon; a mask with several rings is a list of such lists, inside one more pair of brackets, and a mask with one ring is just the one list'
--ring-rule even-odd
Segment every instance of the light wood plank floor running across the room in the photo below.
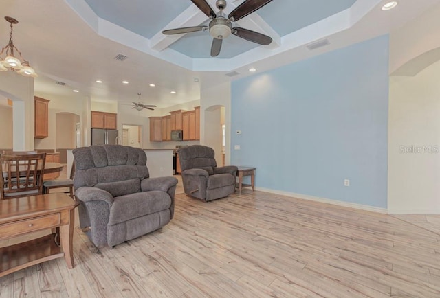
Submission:
{"label": "light wood plank floor running across the room", "polygon": [[440,297],[440,216],[389,216],[243,190],[96,249],[0,278],[0,297]]}

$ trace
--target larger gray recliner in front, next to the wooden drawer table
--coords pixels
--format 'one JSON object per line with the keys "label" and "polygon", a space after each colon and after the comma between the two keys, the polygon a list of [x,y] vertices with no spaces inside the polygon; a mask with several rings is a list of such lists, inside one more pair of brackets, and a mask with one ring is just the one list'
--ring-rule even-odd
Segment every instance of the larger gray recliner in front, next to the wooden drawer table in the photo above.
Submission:
{"label": "larger gray recliner in front, next to the wooden drawer table", "polygon": [[168,224],[174,177],[148,178],[140,148],[96,145],[74,150],[80,227],[96,247],[110,247]]}

